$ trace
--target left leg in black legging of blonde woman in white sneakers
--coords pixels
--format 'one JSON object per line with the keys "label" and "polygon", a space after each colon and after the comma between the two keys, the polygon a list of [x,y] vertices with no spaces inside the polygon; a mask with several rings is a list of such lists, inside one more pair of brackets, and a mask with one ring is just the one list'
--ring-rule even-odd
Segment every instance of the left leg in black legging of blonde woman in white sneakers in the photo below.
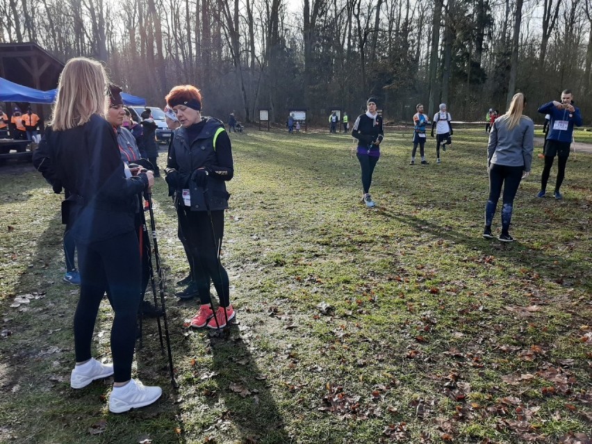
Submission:
{"label": "left leg in black legging of blonde woman in white sneakers", "polygon": [[[76,362],[92,358],[90,344],[99,305],[107,289],[104,264],[95,245],[79,243],[80,299],[74,313],[74,354]],[[135,338],[135,336],[134,336]]]}

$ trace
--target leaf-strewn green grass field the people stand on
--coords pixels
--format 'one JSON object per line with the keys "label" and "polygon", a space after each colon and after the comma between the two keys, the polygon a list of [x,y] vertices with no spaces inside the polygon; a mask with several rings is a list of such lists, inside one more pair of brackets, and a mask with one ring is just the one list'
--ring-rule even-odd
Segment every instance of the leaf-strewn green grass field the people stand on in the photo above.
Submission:
{"label": "leaf-strewn green grass field the people stand on", "polygon": [[[410,131],[386,133],[372,210],[347,135],[231,137],[222,261],[238,324],[227,339],[184,326],[197,302],[172,296],[187,266],[158,179],[179,389],[149,320],[134,375],[163,397],[123,415],[108,413],[112,381],[69,388],[61,197],[28,165],[0,168],[0,443],[589,442],[592,155],[570,159],[562,202],[534,197],[535,156],[504,245],[481,238],[483,131],[456,131],[441,165],[429,139],[426,166],[408,165]],[[112,319],[105,302],[99,359]]]}

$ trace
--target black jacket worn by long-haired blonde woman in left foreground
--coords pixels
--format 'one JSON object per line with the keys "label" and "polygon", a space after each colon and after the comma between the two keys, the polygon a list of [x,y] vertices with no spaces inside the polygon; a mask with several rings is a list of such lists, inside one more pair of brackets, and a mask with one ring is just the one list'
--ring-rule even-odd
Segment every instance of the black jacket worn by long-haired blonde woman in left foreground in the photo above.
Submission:
{"label": "black jacket worn by long-haired blonde woman in left foreground", "polygon": [[92,115],[89,122],[65,131],[48,127],[33,165],[51,183],[70,195],[63,218],[77,242],[97,242],[133,231],[137,195],[148,185],[146,174],[126,179],[116,134],[106,120]]}

